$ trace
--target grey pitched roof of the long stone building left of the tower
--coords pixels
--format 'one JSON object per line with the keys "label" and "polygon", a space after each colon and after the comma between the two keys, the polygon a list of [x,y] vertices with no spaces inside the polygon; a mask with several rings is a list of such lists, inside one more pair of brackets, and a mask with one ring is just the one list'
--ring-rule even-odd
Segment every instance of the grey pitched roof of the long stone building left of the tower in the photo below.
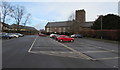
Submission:
{"label": "grey pitched roof of the long stone building left of the tower", "polygon": [[46,27],[67,27],[70,26],[73,21],[61,21],[61,22],[48,22]]}

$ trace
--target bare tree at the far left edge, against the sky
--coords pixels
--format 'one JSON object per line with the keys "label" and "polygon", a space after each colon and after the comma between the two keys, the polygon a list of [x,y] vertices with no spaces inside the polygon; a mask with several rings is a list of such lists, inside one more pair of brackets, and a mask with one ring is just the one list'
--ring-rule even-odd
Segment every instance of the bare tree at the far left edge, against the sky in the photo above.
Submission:
{"label": "bare tree at the far left edge, against the sky", "polygon": [[8,2],[2,2],[1,5],[0,5],[1,9],[2,9],[2,12],[1,12],[1,21],[3,23],[6,22],[6,18],[8,15],[10,15],[11,13],[11,9],[12,9],[12,6],[10,5],[10,3]]}

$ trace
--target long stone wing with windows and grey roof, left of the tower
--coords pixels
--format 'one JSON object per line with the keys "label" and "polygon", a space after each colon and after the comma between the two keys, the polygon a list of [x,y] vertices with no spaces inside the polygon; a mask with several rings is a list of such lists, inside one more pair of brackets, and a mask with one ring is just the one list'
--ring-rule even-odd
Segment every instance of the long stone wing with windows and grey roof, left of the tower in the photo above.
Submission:
{"label": "long stone wing with windows and grey roof, left of the tower", "polygon": [[73,21],[48,22],[45,27],[47,33],[70,33]]}

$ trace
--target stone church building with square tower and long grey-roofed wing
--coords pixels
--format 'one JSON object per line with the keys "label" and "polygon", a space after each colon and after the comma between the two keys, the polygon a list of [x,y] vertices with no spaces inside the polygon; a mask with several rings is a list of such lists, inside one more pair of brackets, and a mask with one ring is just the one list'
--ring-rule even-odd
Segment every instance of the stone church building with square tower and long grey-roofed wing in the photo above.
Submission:
{"label": "stone church building with square tower and long grey-roofed wing", "polygon": [[45,26],[47,33],[79,33],[81,30],[90,29],[93,21],[86,22],[85,10],[76,10],[75,20],[48,22]]}

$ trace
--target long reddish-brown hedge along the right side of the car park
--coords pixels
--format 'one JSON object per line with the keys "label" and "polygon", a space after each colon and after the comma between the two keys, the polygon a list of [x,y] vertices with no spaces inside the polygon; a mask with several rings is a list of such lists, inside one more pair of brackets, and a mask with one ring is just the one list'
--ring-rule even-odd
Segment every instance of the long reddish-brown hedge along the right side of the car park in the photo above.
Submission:
{"label": "long reddish-brown hedge along the right side of the car park", "polygon": [[83,30],[80,34],[86,37],[100,38],[109,40],[118,40],[119,30]]}

